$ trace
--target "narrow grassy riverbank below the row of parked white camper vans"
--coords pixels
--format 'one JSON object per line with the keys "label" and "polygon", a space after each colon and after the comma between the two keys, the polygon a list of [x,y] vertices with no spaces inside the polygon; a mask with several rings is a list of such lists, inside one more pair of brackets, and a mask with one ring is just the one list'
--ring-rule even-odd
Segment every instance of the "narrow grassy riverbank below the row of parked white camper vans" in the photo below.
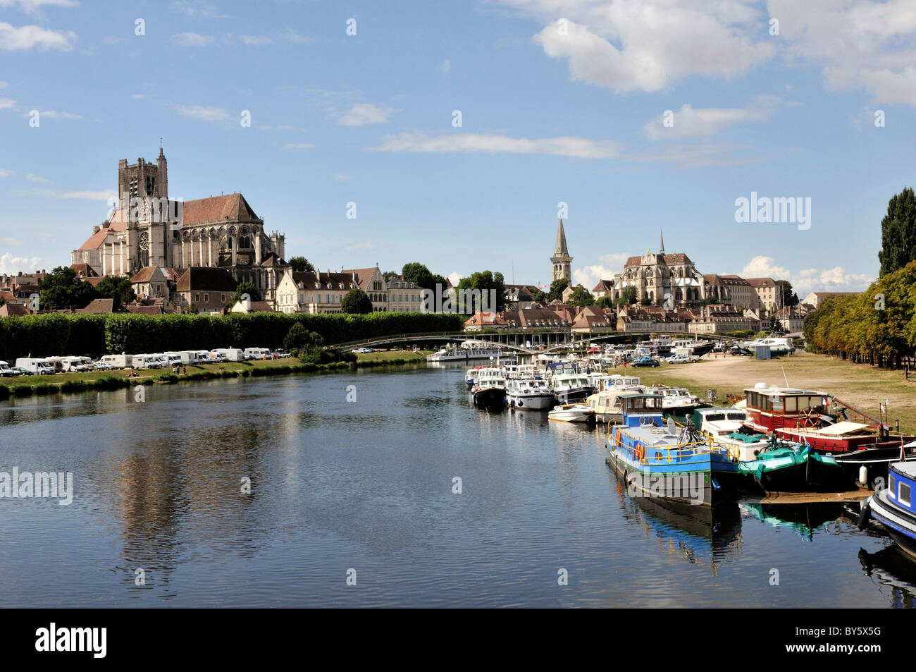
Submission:
{"label": "narrow grassy riverbank below the row of parked white camper vans", "polygon": [[362,369],[426,361],[430,350],[372,352],[358,354],[355,363],[302,364],[297,358],[267,359],[222,364],[189,364],[175,375],[171,369],[134,369],[136,377],[129,377],[129,369],[112,371],[86,371],[84,373],[59,373],[54,376],[19,376],[0,379],[0,400],[45,394],[72,394],[84,391],[117,390],[133,385],[176,384],[194,380],[221,378],[260,378],[316,371]]}

